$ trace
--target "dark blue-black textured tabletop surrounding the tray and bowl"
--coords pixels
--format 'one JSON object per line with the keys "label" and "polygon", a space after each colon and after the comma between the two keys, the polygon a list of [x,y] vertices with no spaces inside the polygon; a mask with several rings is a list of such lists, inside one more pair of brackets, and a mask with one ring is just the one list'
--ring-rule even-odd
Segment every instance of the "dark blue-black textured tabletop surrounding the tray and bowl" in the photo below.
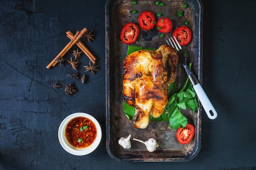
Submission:
{"label": "dark blue-black textured tabletop surrounding the tray and bowl", "polygon": [[[202,111],[201,150],[188,162],[117,162],[106,152],[105,0],[0,1],[0,169],[1,170],[254,170],[256,169],[255,0],[202,0],[203,88],[218,111],[210,120]],[[45,66],[69,42],[65,32],[84,27],[96,36],[86,46],[99,71],[88,81],[70,79],[69,65]],[[76,50],[76,47],[72,48]],[[67,53],[72,56],[72,51]],[[83,75],[89,60],[81,57]],[[64,87],[74,82],[78,93]],[[70,113],[99,120],[103,138],[86,156],[67,153],[58,142],[58,126]]]}

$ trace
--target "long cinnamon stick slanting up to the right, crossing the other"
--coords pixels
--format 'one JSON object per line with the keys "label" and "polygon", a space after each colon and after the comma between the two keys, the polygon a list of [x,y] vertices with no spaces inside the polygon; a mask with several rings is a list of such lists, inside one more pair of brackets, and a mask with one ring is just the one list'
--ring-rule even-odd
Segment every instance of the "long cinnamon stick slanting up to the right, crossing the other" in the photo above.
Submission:
{"label": "long cinnamon stick slanting up to the right, crossing the other", "polygon": [[85,34],[85,32],[87,31],[86,28],[82,29],[81,32],[77,31],[76,34],[74,35],[74,37],[72,38],[72,40],[64,47],[64,49],[52,60],[52,62],[50,62],[48,64],[48,66],[46,66],[47,69],[49,69],[51,66],[55,66],[56,62],[55,60],[58,59],[59,57],[63,57],[67,51],[69,51],[71,49],[72,46],[74,46],[74,44],[76,44],[76,42],[81,38],[81,36],[83,36]]}

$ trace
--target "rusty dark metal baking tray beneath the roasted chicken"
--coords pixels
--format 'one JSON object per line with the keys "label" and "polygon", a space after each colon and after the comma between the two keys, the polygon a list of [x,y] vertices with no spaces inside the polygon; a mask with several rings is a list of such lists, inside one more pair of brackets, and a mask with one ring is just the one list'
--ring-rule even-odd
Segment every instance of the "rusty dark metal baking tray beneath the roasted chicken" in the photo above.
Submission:
{"label": "rusty dark metal baking tray beneath the roasted chicken", "polygon": [[[189,54],[189,62],[193,63],[193,73],[202,82],[202,2],[200,0],[162,0],[164,6],[157,6],[155,0],[139,0],[132,4],[131,0],[107,0],[106,2],[106,149],[108,154],[117,161],[189,161],[198,155],[201,147],[201,110],[199,103],[197,113],[185,110],[182,114],[189,123],[195,126],[195,136],[187,145],[180,144],[176,139],[177,130],[169,126],[169,122],[150,122],[146,129],[133,128],[123,113],[122,78],[123,61],[127,53],[127,44],[120,40],[120,32],[124,24],[134,22],[138,24],[138,16],[142,11],[151,11],[156,20],[161,13],[162,17],[173,22],[173,28],[160,38],[162,33],[156,28],[150,31],[139,30],[139,37],[132,46],[158,48],[166,44],[175,28],[189,21],[188,27],[192,31],[192,40],[184,46]],[[182,9],[183,4],[187,4]],[[131,14],[136,10],[137,13]],[[184,11],[184,16],[177,17],[177,11]],[[184,86],[186,73],[180,66],[177,77],[177,88]],[[124,149],[118,144],[120,137],[131,137],[130,149]],[[148,152],[144,144],[133,141],[137,138],[146,141],[153,137],[159,143],[154,152]]]}

